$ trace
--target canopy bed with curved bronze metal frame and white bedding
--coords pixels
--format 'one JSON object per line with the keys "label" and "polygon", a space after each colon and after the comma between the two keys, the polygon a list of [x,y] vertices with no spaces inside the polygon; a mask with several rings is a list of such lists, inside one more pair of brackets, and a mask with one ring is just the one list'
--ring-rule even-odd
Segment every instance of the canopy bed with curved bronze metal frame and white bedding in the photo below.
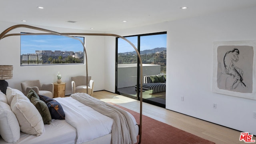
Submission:
{"label": "canopy bed with curved bronze metal frame and white bedding", "polygon": [[[7,34],[11,30],[20,28],[20,27],[25,27],[25,28],[30,28],[30,29],[34,29],[34,30],[48,32],[48,33],[38,33],[40,35],[55,34],[55,35],[67,36],[70,38],[74,38],[73,36],[70,36],[70,35],[116,36],[116,37],[126,40],[129,44],[131,44],[133,46],[134,50],[138,54],[140,65],[142,65],[142,60],[140,58],[140,54],[139,54],[138,50],[136,49],[136,47],[126,38],[124,38],[122,36],[118,36],[116,34],[58,33],[58,32],[54,32],[51,30],[46,30],[46,29],[42,29],[42,28],[38,28],[38,27],[34,27],[34,26],[20,24],[20,25],[15,25],[15,26],[12,26],[12,27],[4,30],[0,34],[0,40],[7,36],[22,35],[22,34]],[[38,35],[38,34],[30,33],[30,34],[23,34],[23,35]],[[74,38],[74,39],[76,39],[76,38]],[[80,42],[82,43],[82,41],[80,41]],[[88,67],[87,67],[88,64],[87,64],[87,54],[86,54],[85,46],[84,46],[84,54],[85,54],[85,62],[86,62],[86,76],[88,77]],[[142,67],[140,67],[140,82],[142,84]],[[20,93],[20,92],[18,92],[18,90],[16,90],[16,92],[14,92],[14,93],[16,93],[16,95],[13,96],[14,100],[18,100],[19,94],[17,94],[17,93]],[[6,95],[7,95],[7,93],[6,93]],[[22,95],[22,93],[20,95]],[[142,88],[140,90],[140,95],[142,97]],[[22,96],[22,98],[26,99],[26,98],[24,98],[24,96]],[[51,143],[52,144],[56,144],[56,143],[61,143],[61,144],[136,143],[137,140],[135,140],[135,138],[137,135],[139,135],[138,143],[140,144],[140,142],[141,142],[141,137],[142,137],[142,98],[140,100],[140,123],[139,124],[136,123],[134,117],[131,114],[129,114],[128,112],[124,112],[123,110],[120,110],[120,108],[114,108],[114,106],[112,106],[110,104],[103,104],[104,102],[101,102],[100,100],[96,100],[95,98],[92,98],[91,96],[89,96],[88,94],[85,94],[85,93],[76,93],[76,94],[72,94],[70,97],[67,97],[67,98],[54,98],[53,100],[59,102],[59,105],[61,107],[63,107],[63,111],[65,113],[65,120],[52,119],[52,120],[50,120],[50,124],[44,124],[43,129],[42,128],[41,129],[34,128],[33,130],[36,131],[36,134],[28,134],[28,132],[20,132],[20,138],[18,139],[17,144],[24,144],[24,143],[25,144],[34,144],[34,143],[37,143],[37,144],[45,144],[45,143],[47,143],[47,144],[51,144]],[[10,100],[8,100],[8,96],[7,96],[7,103],[8,103],[8,101],[10,101]],[[96,108],[93,108],[93,106],[91,104],[94,105],[94,103],[92,103],[92,101],[94,101],[94,103],[97,104],[98,106],[104,105],[103,108],[98,108],[98,106],[96,106]],[[6,108],[8,107],[6,104],[3,104],[4,102],[0,101],[0,103],[2,104],[2,105],[0,104],[1,106],[4,105],[4,106],[6,106]],[[10,107],[12,107],[13,104],[9,104],[9,105],[10,105]],[[107,108],[107,110],[106,110],[106,108]],[[109,110],[108,108],[111,108],[111,110]],[[18,110],[21,110],[21,109],[18,109]],[[5,110],[2,110],[2,111],[5,111]],[[114,116],[114,118],[113,117],[111,118],[112,113],[104,115],[104,114],[102,114],[102,111],[115,111],[118,114],[121,113],[122,116],[118,115],[118,116]],[[90,113],[88,113],[88,112],[90,112]],[[76,114],[78,114],[78,116]],[[84,116],[84,115],[86,115],[85,116],[86,119],[80,118],[81,116]],[[91,117],[88,117],[88,115],[91,115]],[[18,116],[16,116],[16,117],[18,119]],[[127,121],[124,121],[122,119],[116,120],[116,117],[125,117],[125,119]],[[27,118],[25,118],[25,119],[27,119]],[[120,121],[120,122],[116,123],[114,121]],[[5,122],[6,122],[6,125],[10,125],[9,121],[5,121]],[[11,121],[11,122],[12,122],[11,124],[15,123],[13,121]],[[94,124],[94,122],[96,122],[96,124]],[[28,122],[28,123],[31,125],[30,122]],[[42,123],[42,122],[38,122],[38,123]],[[130,124],[128,124],[129,125],[128,127],[127,126],[123,127],[122,123],[130,123]],[[17,124],[17,122],[16,122],[16,124]],[[124,130],[124,131],[116,130],[116,129],[120,129],[120,128],[118,128],[120,126],[122,127],[121,129],[127,129],[127,130]],[[42,124],[41,124],[41,127],[42,127]],[[2,128],[2,125],[0,127],[0,130],[1,130],[1,128]],[[23,126],[20,126],[20,129],[23,129]],[[88,131],[86,131],[86,129]],[[39,132],[38,132],[38,130],[39,130]],[[23,130],[21,130],[21,131],[23,131]],[[132,133],[131,133],[131,131],[132,131]],[[134,138],[134,134],[136,135],[135,138]],[[113,137],[113,135],[119,135],[119,136]],[[121,136],[121,135],[123,135],[123,136]],[[14,135],[14,137],[15,137],[15,135]],[[17,139],[17,137],[16,137],[16,139]],[[129,140],[127,140],[127,139],[129,139]],[[0,143],[7,144],[8,142],[6,142],[5,140],[3,140],[3,138],[1,138]]]}

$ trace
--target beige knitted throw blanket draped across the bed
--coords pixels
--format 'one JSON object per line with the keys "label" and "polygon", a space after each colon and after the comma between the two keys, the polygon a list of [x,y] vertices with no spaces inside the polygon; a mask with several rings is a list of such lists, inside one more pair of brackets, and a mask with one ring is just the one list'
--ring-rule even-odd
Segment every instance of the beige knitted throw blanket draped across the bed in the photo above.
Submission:
{"label": "beige knitted throw blanket draped across the bed", "polygon": [[125,110],[102,102],[86,93],[75,93],[70,97],[114,120],[111,132],[112,144],[135,144],[137,142],[134,122]]}

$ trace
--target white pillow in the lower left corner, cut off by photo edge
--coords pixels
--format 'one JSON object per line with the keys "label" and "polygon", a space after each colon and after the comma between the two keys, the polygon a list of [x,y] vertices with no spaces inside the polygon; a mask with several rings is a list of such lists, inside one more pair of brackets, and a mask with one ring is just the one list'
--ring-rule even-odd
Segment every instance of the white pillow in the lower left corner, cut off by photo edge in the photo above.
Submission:
{"label": "white pillow in the lower left corner, cut off by photo edge", "polygon": [[20,139],[19,122],[10,106],[0,102],[0,135],[6,142],[15,143]]}

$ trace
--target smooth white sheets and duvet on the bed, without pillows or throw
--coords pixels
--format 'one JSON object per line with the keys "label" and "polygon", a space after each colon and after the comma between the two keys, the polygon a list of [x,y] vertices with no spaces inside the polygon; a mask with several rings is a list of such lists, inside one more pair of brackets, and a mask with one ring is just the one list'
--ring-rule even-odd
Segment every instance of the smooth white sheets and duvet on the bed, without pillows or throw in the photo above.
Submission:
{"label": "smooth white sheets and duvet on the bed, without pillows or throw", "polygon": [[[20,140],[16,144],[80,144],[98,137],[104,138],[111,133],[112,118],[96,112],[71,97],[54,99],[62,105],[66,120],[53,119],[50,125],[44,125],[44,132],[38,137],[21,132]],[[132,120],[136,125],[133,116]],[[136,132],[138,132],[138,126],[136,126]],[[10,143],[0,138],[0,144]]]}

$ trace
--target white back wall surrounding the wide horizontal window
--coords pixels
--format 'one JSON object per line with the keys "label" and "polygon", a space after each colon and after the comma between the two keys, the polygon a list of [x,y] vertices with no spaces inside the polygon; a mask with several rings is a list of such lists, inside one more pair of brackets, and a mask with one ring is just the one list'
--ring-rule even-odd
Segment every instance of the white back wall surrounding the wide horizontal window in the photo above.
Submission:
{"label": "white back wall surrounding the wide horizontal window", "polygon": [[[0,32],[16,25],[0,22]],[[56,32],[92,33],[91,31],[38,26]],[[37,32],[28,28],[18,28],[10,33]],[[104,90],[104,36],[84,36],[88,56],[88,75],[94,80],[94,91]],[[66,95],[72,93],[71,76],[86,75],[85,64],[54,66],[20,66],[20,36],[6,37],[0,40],[0,65],[13,65],[13,78],[6,80],[9,86],[21,90],[20,83],[25,80],[39,79],[41,83],[54,83],[60,72],[62,82],[66,82]]]}

